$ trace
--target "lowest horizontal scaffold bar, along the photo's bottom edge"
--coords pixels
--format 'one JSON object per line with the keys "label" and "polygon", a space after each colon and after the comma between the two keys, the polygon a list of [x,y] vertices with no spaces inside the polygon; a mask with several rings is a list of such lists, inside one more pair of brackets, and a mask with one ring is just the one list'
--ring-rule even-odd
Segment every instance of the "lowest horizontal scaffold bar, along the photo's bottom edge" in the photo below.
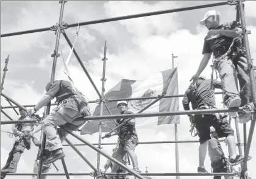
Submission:
{"label": "lowest horizontal scaffold bar, along the photo's bottom edge", "polygon": [[[33,173],[12,173],[12,174],[6,174],[6,175],[20,175],[20,176],[29,176],[29,175],[37,175]],[[54,176],[62,176],[66,175],[64,173],[42,173],[42,175],[54,175]],[[86,175],[91,175],[91,173],[69,173],[68,175],[73,175],[73,176],[86,176]],[[105,175],[108,176],[114,176],[114,175],[129,175],[131,176],[132,174],[127,174],[127,173],[106,173]],[[235,173],[208,173],[208,174],[198,174],[198,173],[142,173],[140,174],[141,176],[234,176]]]}

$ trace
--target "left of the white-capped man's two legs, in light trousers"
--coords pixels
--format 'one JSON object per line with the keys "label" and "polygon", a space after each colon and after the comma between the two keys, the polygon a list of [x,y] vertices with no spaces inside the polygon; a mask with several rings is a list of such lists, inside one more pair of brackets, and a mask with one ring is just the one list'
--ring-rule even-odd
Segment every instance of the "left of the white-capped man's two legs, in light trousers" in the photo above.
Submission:
{"label": "left of the white-capped man's two legs, in light trousers", "polygon": [[[220,60],[216,67],[221,78],[222,91],[224,93],[224,104],[228,108],[240,107],[241,99],[238,93],[238,86],[236,86],[236,71],[232,60],[229,57]],[[229,113],[235,115],[236,113]]]}

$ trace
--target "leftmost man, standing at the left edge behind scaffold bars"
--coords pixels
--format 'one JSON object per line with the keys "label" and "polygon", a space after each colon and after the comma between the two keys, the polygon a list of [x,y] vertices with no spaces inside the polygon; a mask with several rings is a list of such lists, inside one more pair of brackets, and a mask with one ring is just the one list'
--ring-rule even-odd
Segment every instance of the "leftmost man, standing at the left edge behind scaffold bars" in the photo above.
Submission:
{"label": "leftmost man, standing at the left edge behind scaffold bars", "polygon": [[[31,118],[27,115],[27,112],[22,108],[19,108],[20,116],[18,120],[30,120]],[[20,161],[21,154],[25,149],[30,149],[30,139],[32,138],[32,130],[34,125],[37,123],[22,123],[13,124],[12,130],[15,135],[15,143],[13,148],[9,153],[9,158],[7,163],[1,169],[1,178],[5,178],[7,173],[15,173],[18,167],[18,162]]]}

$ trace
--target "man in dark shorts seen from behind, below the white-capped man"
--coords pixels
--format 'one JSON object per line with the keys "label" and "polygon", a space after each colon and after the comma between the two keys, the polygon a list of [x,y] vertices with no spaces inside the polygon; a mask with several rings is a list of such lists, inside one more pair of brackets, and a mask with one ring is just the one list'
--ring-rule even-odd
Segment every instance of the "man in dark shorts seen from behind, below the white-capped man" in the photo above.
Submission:
{"label": "man in dark shorts seen from behind, below the white-capped man", "polygon": [[[213,86],[211,88],[211,80],[207,80],[205,77],[200,76],[196,84],[191,84],[185,92],[185,96],[182,100],[184,110],[190,110],[190,102],[193,110],[216,108],[214,94],[215,88],[221,89],[221,83],[213,80]],[[215,127],[219,137],[227,138],[227,144],[232,153],[230,163],[232,163],[232,165],[241,163],[244,157],[241,155],[236,155],[234,131],[226,119],[220,118],[219,114],[196,114],[194,116],[188,116],[190,118],[190,122],[193,122],[196,125],[199,132],[199,167],[197,168],[197,172],[203,174],[207,173],[207,170],[204,168],[204,161],[207,152],[208,140],[211,139],[211,126]]]}

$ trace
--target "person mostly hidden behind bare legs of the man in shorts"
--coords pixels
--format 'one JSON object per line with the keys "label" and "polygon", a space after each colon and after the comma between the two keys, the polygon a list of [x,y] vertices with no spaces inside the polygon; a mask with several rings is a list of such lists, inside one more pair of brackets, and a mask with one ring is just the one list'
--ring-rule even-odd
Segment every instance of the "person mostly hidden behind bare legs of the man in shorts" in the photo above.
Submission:
{"label": "person mostly hidden behind bare legs of the man in shorts", "polygon": [[[230,166],[218,141],[219,136],[214,127],[210,128],[211,139],[208,141],[208,155],[210,156],[213,173],[230,173]],[[251,160],[252,156],[248,156]],[[225,179],[232,179],[232,176],[225,176]],[[214,176],[213,179],[221,179],[221,176]]]}

